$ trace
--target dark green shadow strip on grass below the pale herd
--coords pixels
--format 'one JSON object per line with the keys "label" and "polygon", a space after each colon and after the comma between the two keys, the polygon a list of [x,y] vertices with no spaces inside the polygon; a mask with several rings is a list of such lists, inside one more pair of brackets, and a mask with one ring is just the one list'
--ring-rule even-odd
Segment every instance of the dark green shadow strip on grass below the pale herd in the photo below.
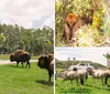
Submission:
{"label": "dark green shadow strip on grass below the pale herd", "polygon": [[61,92],[63,94],[68,94],[68,93],[77,93],[77,94],[86,94],[86,93],[90,93],[92,90],[90,88],[70,88],[70,90],[67,90],[67,91],[64,91]]}

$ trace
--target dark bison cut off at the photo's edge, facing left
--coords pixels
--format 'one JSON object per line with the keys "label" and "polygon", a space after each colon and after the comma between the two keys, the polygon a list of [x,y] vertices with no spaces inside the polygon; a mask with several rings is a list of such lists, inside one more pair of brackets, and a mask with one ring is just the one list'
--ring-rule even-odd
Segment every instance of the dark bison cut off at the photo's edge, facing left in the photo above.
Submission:
{"label": "dark bison cut off at the photo's edge, facing left", "polygon": [[38,58],[37,65],[41,69],[46,69],[48,71],[48,82],[51,82],[52,74],[54,74],[54,55],[53,54],[42,54]]}

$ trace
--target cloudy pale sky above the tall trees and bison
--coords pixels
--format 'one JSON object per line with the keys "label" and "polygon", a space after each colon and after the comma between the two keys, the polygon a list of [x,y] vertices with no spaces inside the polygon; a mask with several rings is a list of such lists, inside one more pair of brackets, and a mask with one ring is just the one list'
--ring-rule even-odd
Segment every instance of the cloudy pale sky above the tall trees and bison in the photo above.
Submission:
{"label": "cloudy pale sky above the tall trees and bison", "polygon": [[0,23],[54,29],[54,0],[0,0]]}

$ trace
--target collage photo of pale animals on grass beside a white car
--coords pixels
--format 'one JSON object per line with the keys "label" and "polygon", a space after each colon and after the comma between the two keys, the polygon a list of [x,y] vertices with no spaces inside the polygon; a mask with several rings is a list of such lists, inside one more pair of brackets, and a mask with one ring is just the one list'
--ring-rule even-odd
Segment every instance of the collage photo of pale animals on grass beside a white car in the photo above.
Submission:
{"label": "collage photo of pale animals on grass beside a white car", "polygon": [[109,94],[109,48],[56,48],[55,94]]}

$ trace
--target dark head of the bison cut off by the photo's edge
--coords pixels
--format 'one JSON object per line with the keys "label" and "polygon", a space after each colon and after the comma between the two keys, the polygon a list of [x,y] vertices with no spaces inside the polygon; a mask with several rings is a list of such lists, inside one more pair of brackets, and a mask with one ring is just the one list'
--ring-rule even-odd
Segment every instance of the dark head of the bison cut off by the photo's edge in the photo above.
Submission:
{"label": "dark head of the bison cut off by the photo's edge", "polygon": [[41,67],[41,69],[46,69],[47,67],[47,55],[41,55],[38,58],[38,62],[37,62],[37,65]]}

